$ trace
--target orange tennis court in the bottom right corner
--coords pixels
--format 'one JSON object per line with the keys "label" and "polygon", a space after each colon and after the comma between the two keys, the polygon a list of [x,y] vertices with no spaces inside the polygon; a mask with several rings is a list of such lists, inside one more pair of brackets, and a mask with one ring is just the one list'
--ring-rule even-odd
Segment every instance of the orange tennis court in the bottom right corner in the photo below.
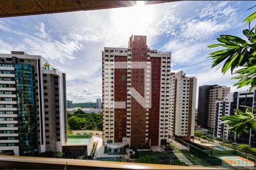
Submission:
{"label": "orange tennis court in the bottom right corner", "polygon": [[254,167],[254,162],[238,155],[214,155],[222,160],[223,167]]}

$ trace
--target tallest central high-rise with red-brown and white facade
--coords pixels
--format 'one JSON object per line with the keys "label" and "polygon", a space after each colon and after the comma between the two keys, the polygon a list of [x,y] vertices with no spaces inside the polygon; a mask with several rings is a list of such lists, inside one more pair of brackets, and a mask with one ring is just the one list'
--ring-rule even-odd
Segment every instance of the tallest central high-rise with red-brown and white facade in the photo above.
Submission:
{"label": "tallest central high-rise with red-brown and white facade", "polygon": [[103,141],[110,151],[168,142],[171,53],[131,36],[128,48],[104,48]]}

